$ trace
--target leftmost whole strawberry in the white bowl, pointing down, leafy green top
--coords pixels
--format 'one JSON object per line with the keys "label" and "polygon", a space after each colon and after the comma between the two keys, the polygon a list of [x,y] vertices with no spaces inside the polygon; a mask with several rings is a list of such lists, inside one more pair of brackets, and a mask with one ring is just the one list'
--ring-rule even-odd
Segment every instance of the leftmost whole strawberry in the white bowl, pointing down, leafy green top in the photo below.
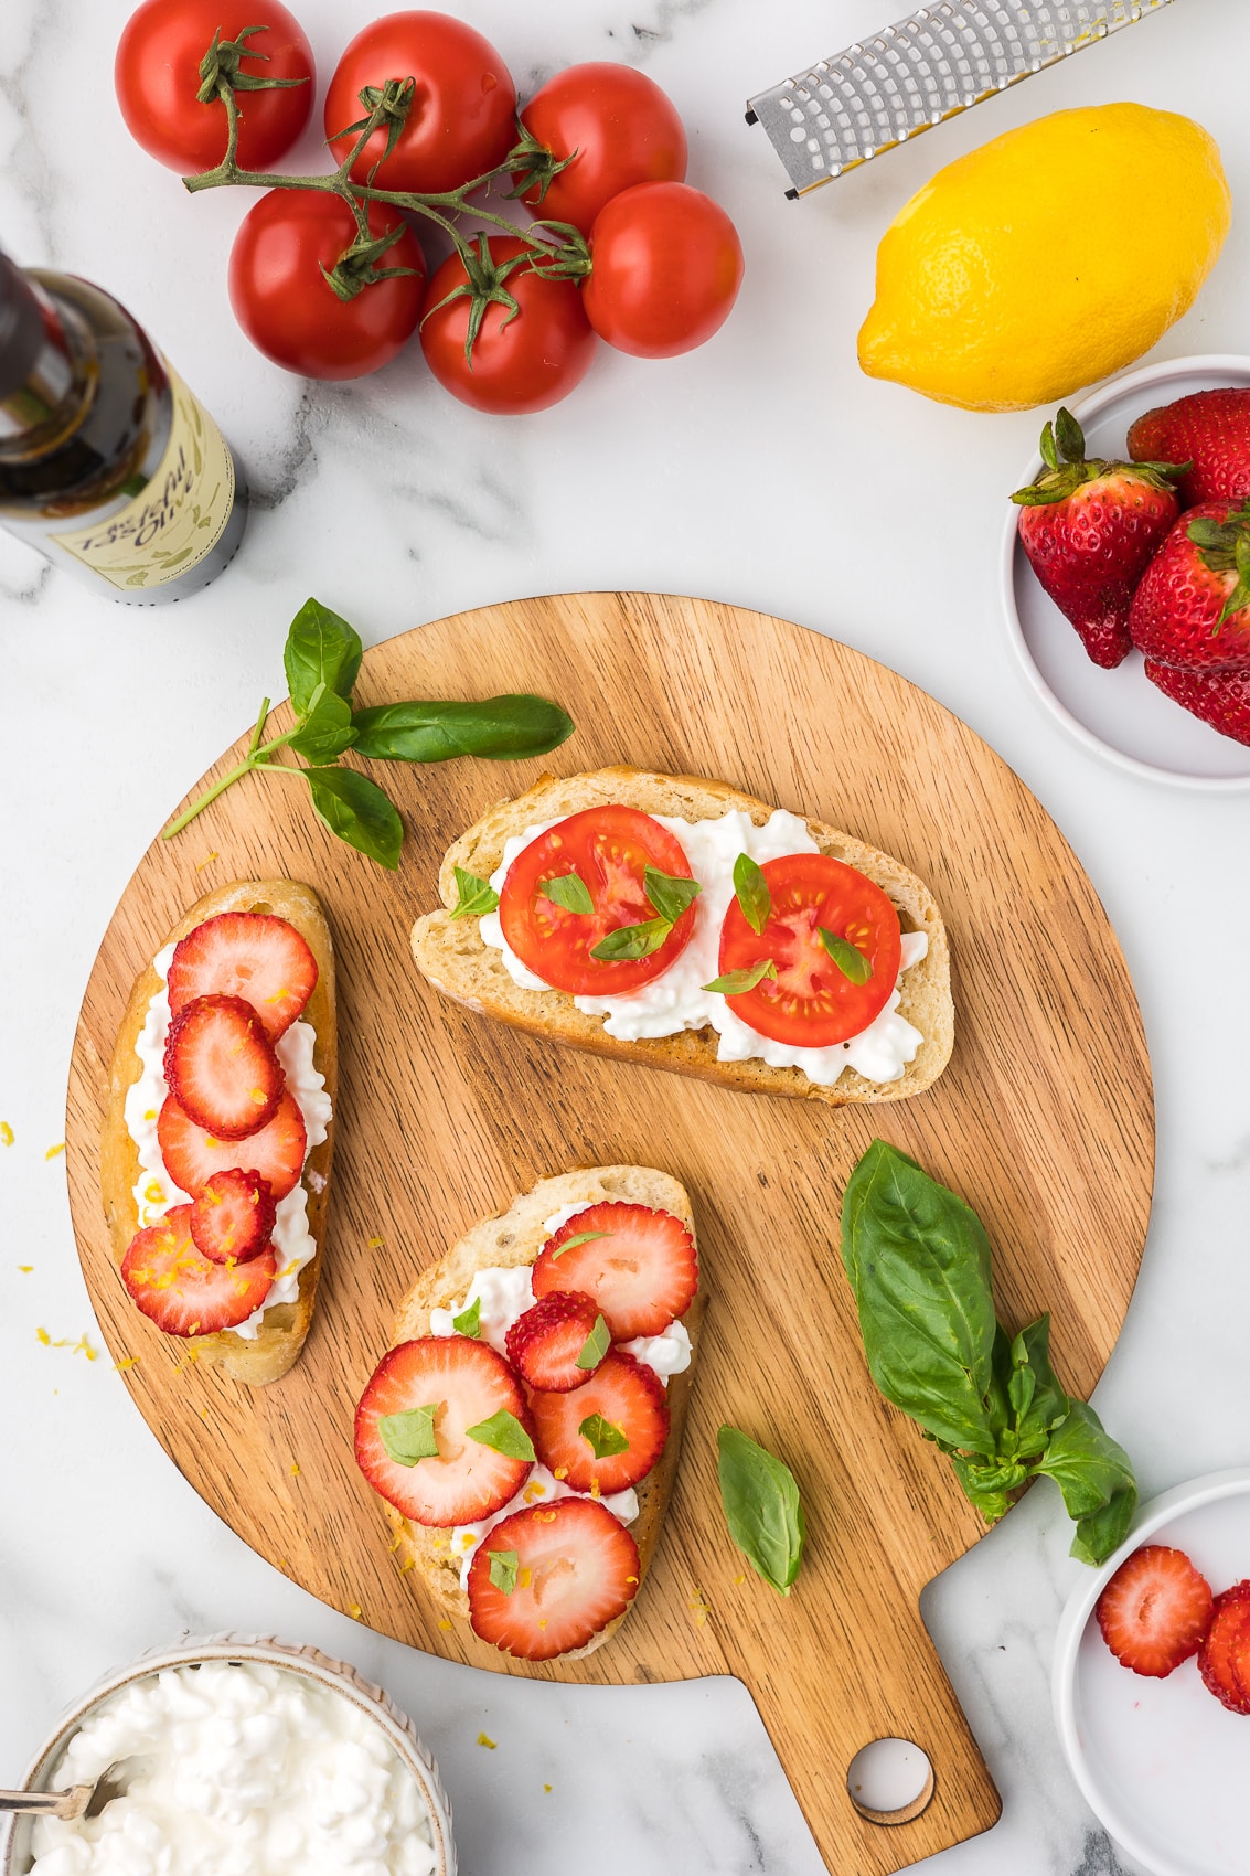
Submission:
{"label": "leftmost whole strawberry in the white bowl, pointing down, leafy green top", "polygon": [[1166,461],[1087,460],[1072,411],[1042,431],[1045,469],[1012,501],[1029,565],[1094,664],[1113,670],[1132,649],[1128,608],[1141,570],[1177,520],[1177,475]]}

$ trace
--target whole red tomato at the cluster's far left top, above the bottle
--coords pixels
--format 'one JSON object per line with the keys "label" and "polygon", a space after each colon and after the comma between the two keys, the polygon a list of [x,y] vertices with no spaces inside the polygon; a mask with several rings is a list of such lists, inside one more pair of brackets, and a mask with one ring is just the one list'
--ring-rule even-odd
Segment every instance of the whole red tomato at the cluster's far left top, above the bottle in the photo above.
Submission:
{"label": "whole red tomato at the cluster's far left top, above the bottle", "polygon": [[238,161],[272,169],[308,124],[313,107],[312,47],[282,0],[143,0],[116,49],[113,83],[126,128],[148,156],[169,169],[216,169],[225,156],[227,122],[220,99],[201,105],[199,62],[221,39],[248,34],[240,71],[257,79],[304,79],[302,84],[236,92]]}

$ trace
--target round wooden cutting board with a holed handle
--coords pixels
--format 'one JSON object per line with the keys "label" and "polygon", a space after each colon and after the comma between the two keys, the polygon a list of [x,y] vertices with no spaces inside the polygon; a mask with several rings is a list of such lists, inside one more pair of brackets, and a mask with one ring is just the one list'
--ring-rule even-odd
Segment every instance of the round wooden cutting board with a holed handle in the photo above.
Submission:
{"label": "round wooden cutting board with a holed handle", "polygon": [[[379,767],[407,825],[396,874],[334,840],[302,790],[259,777],[180,839],[154,840],[105,934],[73,1052],[69,1182],[92,1300],[114,1360],[139,1356],[126,1384],[180,1471],[313,1595],[495,1672],[739,1675],[830,1870],[897,1870],[998,1816],[918,1608],[983,1527],[948,1461],[867,1377],[837,1255],[843,1184],[880,1135],[963,1193],[995,1246],[998,1315],[1019,1326],[1051,1309],[1057,1371],[1087,1394],[1128,1308],[1151,1208],[1151,1071],[1124,959],[1075,855],[1006,764],[929,696],[828,638],[698,600],[535,598],[379,645],[357,700],[505,690],[559,698],[576,735],[544,762]],[[952,934],[957,1011],[935,1088],[846,1109],[743,1096],[544,1047],[430,991],[407,934],[437,902],[450,839],[542,767],[614,762],[723,777],[929,882]],[[184,1364],[130,1304],[101,1218],[98,1135],[137,972],[205,891],[274,874],[315,885],[334,930],[338,1148],[308,1347],[285,1381],[248,1390]],[[439,1626],[398,1568],[381,1501],[353,1461],[353,1409],[424,1264],[541,1176],[612,1161],[685,1182],[711,1304],[678,1488],[638,1604],[589,1660],[533,1670]],[[728,1540],[715,1475],[724,1420],[801,1484],[807,1555],[785,1600]],[[850,1805],[845,1771],[890,1733],[925,1748],[937,1793],[914,1822],[882,1829]]]}

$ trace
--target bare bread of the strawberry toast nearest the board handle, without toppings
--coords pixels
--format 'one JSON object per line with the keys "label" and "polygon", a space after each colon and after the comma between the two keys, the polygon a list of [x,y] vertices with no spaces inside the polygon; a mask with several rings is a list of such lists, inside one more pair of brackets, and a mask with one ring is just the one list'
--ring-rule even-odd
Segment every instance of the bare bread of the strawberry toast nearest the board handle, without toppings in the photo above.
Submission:
{"label": "bare bread of the strawberry toast nearest the board handle, without toppings", "polygon": [[[561,1206],[599,1204],[604,1199],[623,1199],[629,1204],[648,1204],[653,1210],[672,1212],[674,1218],[681,1219],[691,1236],[694,1236],[694,1214],[691,1212],[687,1191],[668,1172],[657,1172],[653,1167],[589,1167],[582,1172],[561,1172],[556,1178],[544,1178],[533,1191],[514,1199],[501,1218],[484,1218],[471,1231],[465,1231],[464,1238],[452,1246],[447,1257],[422,1270],[400,1304],[394,1328],[390,1330],[390,1345],[396,1347],[402,1341],[415,1341],[419,1336],[428,1336],[430,1311],[447,1309],[452,1302],[462,1302],[477,1270],[512,1270],[518,1264],[537,1263],[539,1251],[548,1238],[544,1219],[559,1212]],[[668,1381],[668,1443],[659,1463],[636,1488],[638,1518],[629,1525],[629,1531],[638,1544],[640,1587],[655,1555],[664,1508],[668,1506],[668,1495],[678,1471],[678,1452],[691,1399],[691,1377],[694,1373],[698,1326],[704,1317],[706,1294],[708,1281],[700,1270],[698,1293],[681,1317],[691,1338],[691,1366]],[[467,1621],[469,1598],[460,1587],[462,1559],[452,1555],[450,1531],[411,1523],[392,1505],[387,1505],[385,1510],[398,1536],[402,1563],[415,1566],[413,1574],[420,1574],[449,1615]],[[629,1615],[629,1610],[625,1610],[625,1615]],[[574,1649],[569,1655],[557,1657],[557,1660],[578,1660],[582,1655],[591,1655],[616,1632],[625,1615],[617,1615],[614,1623],[608,1623],[584,1649]]]}

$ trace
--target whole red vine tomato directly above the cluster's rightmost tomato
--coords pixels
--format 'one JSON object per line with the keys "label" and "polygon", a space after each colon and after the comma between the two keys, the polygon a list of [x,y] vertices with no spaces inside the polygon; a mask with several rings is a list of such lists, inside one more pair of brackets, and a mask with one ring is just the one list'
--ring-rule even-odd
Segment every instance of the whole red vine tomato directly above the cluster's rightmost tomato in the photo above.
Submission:
{"label": "whole red vine tomato directly above the cluster's rightmost tomato", "polygon": [[636,182],[685,178],[685,131],[670,99],[633,66],[569,66],[535,92],[522,124],[559,158],[539,204],[537,186],[522,197],[548,221],[572,221],[589,234],[599,210]]}

